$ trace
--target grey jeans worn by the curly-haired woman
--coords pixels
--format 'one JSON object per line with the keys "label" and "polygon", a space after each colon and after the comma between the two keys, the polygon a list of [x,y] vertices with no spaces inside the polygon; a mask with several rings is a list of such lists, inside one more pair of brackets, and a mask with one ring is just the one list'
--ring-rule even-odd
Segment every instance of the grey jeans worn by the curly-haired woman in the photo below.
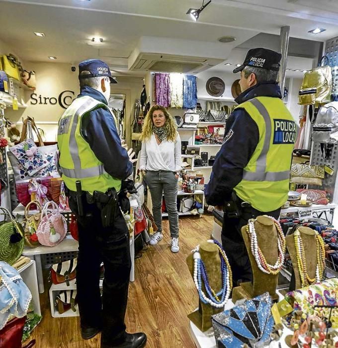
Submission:
{"label": "grey jeans worn by the curly-haired woman", "polygon": [[145,175],[153,202],[153,216],[158,232],[162,233],[162,193],[169,217],[170,236],[178,237],[177,179],[168,171],[147,171]]}

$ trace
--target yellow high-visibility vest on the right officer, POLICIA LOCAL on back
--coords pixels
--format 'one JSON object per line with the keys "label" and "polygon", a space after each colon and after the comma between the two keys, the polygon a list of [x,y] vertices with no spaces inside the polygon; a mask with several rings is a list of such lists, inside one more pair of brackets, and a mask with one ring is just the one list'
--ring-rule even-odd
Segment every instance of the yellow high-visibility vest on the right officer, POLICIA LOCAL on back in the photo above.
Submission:
{"label": "yellow high-visibility vest on the right officer, POLICIA LOCAL on back", "polygon": [[237,108],[244,108],[257,124],[259,141],[234,190],[257,210],[278,209],[288,198],[296,123],[279,98],[256,97]]}

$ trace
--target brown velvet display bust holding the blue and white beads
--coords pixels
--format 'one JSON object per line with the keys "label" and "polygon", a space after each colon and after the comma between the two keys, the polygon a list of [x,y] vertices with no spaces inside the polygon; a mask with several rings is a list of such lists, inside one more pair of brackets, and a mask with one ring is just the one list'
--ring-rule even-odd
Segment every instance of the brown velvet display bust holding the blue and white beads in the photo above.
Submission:
{"label": "brown velvet display bust holding the blue and white beads", "polygon": [[[222,273],[221,273],[221,259],[219,257],[218,248],[213,243],[203,242],[200,244],[199,253],[204,262],[206,272],[209,279],[209,284],[212,289],[218,292],[222,288]],[[193,254],[186,258],[189,271],[194,276],[194,260]],[[204,284],[202,291],[206,293]],[[200,329],[202,332],[211,328],[211,316],[223,312],[223,308],[216,308],[209,304],[203,303],[200,299],[198,301],[198,310],[188,315],[188,318]]]}

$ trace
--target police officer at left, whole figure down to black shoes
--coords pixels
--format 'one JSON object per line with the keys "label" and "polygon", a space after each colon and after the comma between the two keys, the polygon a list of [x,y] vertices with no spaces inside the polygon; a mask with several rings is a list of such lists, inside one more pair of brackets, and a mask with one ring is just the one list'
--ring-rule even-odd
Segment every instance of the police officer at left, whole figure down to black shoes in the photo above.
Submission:
{"label": "police officer at left, whole figure down to black shoes", "polygon": [[123,180],[133,173],[135,154],[121,144],[108,108],[110,84],[116,83],[108,65],[94,59],[81,62],[79,79],[80,94],[59,121],[58,146],[70,208],[78,219],[81,334],[87,340],[102,331],[102,348],[144,347],[146,335],[127,334],[124,324],[131,259],[129,231],[118,203]]}

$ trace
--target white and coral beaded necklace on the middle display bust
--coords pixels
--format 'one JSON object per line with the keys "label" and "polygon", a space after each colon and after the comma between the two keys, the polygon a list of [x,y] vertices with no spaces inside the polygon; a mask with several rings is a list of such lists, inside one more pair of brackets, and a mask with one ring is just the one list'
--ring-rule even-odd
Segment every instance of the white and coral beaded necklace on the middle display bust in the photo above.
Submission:
{"label": "white and coral beaded necklace on the middle display bust", "polygon": [[[267,215],[264,215],[267,216]],[[282,231],[282,228],[279,224],[279,222],[273,218],[272,216],[267,216],[270,218],[277,230],[277,244],[278,244],[278,259],[275,264],[269,264],[263,253],[261,252],[258,242],[257,242],[257,234],[254,229],[254,222],[256,221],[255,219],[250,219],[246,228],[247,234],[250,238],[250,247],[251,247],[251,252],[254,256],[254,259],[257,263],[258,268],[267,274],[278,274],[280,269],[283,266],[284,258],[285,258],[285,248],[286,248],[286,242],[285,242],[285,237]]]}

